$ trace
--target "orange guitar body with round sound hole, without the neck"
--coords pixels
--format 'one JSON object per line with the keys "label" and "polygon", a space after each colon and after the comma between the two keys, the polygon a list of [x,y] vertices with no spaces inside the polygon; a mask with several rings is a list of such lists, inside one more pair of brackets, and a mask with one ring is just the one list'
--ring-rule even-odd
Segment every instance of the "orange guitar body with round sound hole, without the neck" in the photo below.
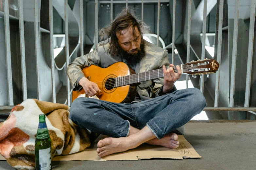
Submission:
{"label": "orange guitar body with round sound hole, without the neck", "polygon": [[[114,78],[135,74],[127,64],[117,62],[107,68],[101,68],[96,65],[83,68],[83,73],[86,78],[96,83],[99,86],[102,94],[92,98],[98,98],[115,103],[130,103],[134,100],[137,88],[130,84],[121,87],[113,87]],[[78,91],[73,91],[72,101],[78,97],[88,97],[83,88]]]}

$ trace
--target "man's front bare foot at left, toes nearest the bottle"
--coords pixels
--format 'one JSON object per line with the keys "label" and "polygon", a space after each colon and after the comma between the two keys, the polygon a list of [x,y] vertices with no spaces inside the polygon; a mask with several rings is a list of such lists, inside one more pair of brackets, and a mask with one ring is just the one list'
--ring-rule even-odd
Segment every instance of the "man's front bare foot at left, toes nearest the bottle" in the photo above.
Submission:
{"label": "man's front bare foot at left, toes nearest the bottle", "polygon": [[136,148],[134,142],[131,142],[129,137],[112,138],[107,137],[100,140],[97,144],[97,153],[99,157],[104,157],[116,152],[124,152],[128,149]]}

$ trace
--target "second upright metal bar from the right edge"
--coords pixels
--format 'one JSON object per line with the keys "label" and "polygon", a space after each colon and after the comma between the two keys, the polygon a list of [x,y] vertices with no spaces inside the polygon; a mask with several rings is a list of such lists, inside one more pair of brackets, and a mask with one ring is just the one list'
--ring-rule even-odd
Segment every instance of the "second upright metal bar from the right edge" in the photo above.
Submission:
{"label": "second upright metal bar from the right edge", "polygon": [[236,67],[236,52],[237,52],[238,16],[239,16],[239,0],[236,0],[235,1],[233,49],[232,49],[232,67],[231,67],[231,80],[230,80],[230,101],[229,101],[229,106],[230,107],[234,107],[235,67]]}

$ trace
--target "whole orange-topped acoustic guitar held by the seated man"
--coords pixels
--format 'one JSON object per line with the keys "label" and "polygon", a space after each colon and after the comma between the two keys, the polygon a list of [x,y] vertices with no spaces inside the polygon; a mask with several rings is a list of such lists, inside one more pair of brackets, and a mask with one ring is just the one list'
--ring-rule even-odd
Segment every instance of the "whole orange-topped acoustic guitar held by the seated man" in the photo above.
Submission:
{"label": "whole orange-topped acoustic guitar held by the seated man", "polygon": [[[216,73],[219,68],[219,63],[214,59],[205,59],[192,61],[190,63],[179,65],[183,74],[196,75]],[[166,67],[166,69],[169,67]],[[173,66],[173,70],[177,73],[177,69]],[[129,68],[123,62],[117,62],[107,68],[101,68],[96,65],[83,68],[83,73],[86,78],[96,83],[101,90],[101,95],[93,96],[100,100],[115,102],[115,103],[130,103],[134,100],[139,82],[153,80],[164,77],[163,69],[137,73]],[[72,101],[78,97],[89,97],[81,88],[78,91],[73,91]]]}

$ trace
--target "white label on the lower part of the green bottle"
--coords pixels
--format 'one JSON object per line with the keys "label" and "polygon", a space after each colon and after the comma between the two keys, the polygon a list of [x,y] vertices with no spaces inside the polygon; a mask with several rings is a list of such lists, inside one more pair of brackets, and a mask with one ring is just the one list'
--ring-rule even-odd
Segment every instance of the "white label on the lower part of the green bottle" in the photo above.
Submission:
{"label": "white label on the lower part of the green bottle", "polygon": [[51,148],[39,149],[39,166],[40,170],[51,169]]}

